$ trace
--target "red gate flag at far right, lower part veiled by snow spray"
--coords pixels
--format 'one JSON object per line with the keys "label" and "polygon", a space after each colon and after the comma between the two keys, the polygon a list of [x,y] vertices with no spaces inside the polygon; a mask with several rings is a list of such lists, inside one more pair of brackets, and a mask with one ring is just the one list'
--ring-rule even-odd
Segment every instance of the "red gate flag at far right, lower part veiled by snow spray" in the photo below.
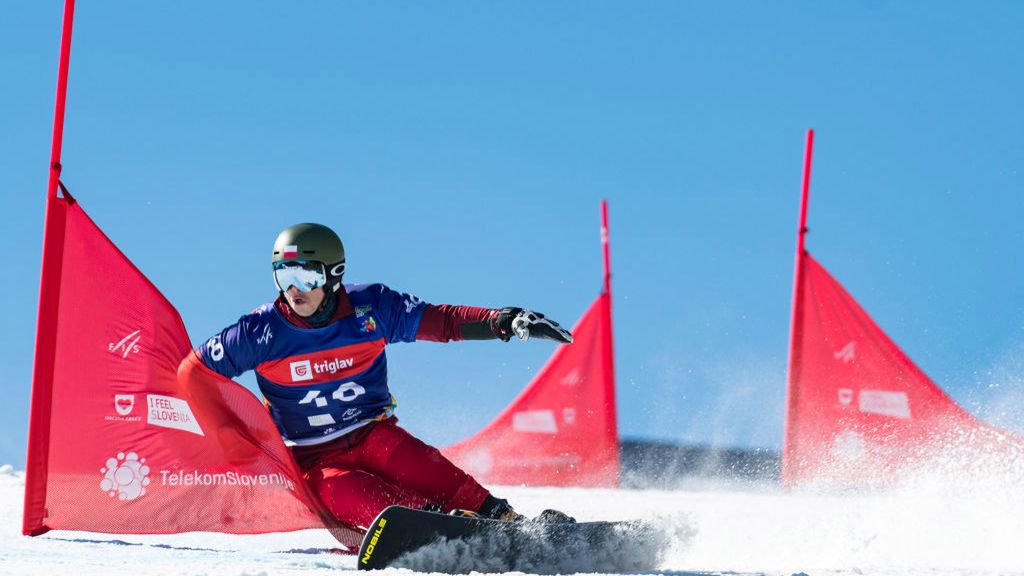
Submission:
{"label": "red gate flag at far right, lower part veiled by snow spray", "polygon": [[1021,461],[1019,437],[957,406],[824,268],[799,258],[785,485],[889,485]]}

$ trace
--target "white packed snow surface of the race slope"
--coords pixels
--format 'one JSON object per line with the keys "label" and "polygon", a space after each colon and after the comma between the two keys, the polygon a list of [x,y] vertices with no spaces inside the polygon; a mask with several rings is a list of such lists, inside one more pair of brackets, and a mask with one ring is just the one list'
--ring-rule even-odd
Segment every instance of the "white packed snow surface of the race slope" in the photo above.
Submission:
{"label": "white packed snow surface of the race slope", "polygon": [[[24,474],[0,467],[0,574],[337,576],[355,569],[355,557],[328,551],[336,542],[316,530],[253,536],[53,531],[30,538],[20,533],[24,490]],[[662,574],[1024,575],[1019,485],[964,489],[936,481],[873,494],[735,485],[495,492],[527,515],[556,507],[581,520],[657,519]],[[590,570],[593,559],[585,560],[573,565],[569,558],[562,567]]]}

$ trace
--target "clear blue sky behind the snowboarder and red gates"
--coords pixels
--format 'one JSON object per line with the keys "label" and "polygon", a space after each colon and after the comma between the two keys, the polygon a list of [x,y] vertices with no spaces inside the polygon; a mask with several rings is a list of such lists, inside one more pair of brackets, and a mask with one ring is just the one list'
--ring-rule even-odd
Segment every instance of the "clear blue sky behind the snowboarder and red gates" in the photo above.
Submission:
{"label": "clear blue sky behind the snowboarder and red gates", "polygon": [[[24,465],[60,0],[0,6],[0,463]],[[809,249],[974,413],[1024,429],[1019,2],[81,2],[63,152],[194,342],[273,298],[284,227],[346,279],[571,325],[610,204],[620,429],[778,448]],[[547,342],[390,348],[444,445]],[[251,384],[252,380],[246,380]]]}

